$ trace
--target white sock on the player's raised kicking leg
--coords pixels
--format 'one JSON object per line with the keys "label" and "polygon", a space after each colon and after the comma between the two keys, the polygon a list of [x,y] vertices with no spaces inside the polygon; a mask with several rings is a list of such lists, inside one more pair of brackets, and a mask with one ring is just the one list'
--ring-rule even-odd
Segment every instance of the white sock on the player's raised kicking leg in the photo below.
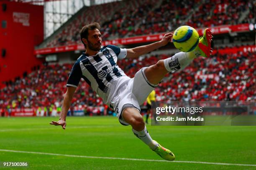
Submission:
{"label": "white sock on the player's raised kicking leg", "polygon": [[179,52],[172,57],[164,59],[164,67],[167,71],[181,71],[187,67],[196,57],[193,52]]}

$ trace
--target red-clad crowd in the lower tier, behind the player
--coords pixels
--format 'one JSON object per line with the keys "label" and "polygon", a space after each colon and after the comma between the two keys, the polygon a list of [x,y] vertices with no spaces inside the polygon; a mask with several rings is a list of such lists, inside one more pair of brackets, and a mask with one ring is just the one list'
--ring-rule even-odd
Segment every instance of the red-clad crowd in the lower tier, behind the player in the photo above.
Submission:
{"label": "red-clad crowd in the lower tier, behind the player", "polygon": [[[119,60],[118,65],[126,75],[133,77],[141,67],[170,56],[148,55],[124,59]],[[43,107],[50,112],[53,109],[59,112],[71,68],[71,64],[42,65],[26,77],[8,83],[0,90],[0,108]],[[171,100],[256,101],[255,84],[255,53],[216,53],[211,58],[196,58],[181,72],[166,75],[156,88],[156,100],[166,103]],[[83,79],[72,100],[71,110],[74,108],[99,115],[109,109]]]}

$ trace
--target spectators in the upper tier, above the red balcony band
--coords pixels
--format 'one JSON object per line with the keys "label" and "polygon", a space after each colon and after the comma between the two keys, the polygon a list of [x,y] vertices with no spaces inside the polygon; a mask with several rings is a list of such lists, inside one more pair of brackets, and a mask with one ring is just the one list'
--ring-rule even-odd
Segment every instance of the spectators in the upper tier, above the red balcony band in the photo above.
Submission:
{"label": "spectators in the upper tier, above the red balcony band", "polygon": [[[255,23],[253,0],[124,0],[84,7],[46,47],[79,44],[79,28],[97,20],[103,40],[175,30]],[[111,16],[111,17],[109,17]],[[111,19],[109,19],[111,18]]]}

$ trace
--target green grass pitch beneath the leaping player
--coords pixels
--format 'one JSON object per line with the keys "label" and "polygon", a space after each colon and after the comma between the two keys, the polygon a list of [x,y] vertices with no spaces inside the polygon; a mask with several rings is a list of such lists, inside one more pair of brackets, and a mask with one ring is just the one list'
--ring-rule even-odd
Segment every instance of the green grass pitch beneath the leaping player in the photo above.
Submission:
{"label": "green grass pitch beneath the leaping player", "polygon": [[[0,169],[90,170],[253,170],[256,166],[143,160],[77,158],[63,155],[162,160],[116,117],[67,117],[67,128],[49,125],[57,117],[0,117]],[[151,137],[176,161],[256,164],[256,126],[151,126]],[[61,155],[13,153],[17,150]],[[62,155],[63,154],[63,155]],[[27,162],[27,168],[3,167]]]}

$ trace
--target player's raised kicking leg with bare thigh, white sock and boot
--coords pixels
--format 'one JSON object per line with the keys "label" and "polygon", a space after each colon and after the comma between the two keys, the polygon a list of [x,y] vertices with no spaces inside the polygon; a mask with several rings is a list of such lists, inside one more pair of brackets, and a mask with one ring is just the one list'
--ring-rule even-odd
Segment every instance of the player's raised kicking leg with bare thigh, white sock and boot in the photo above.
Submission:
{"label": "player's raised kicking leg with bare thigh, white sock and boot", "polygon": [[147,67],[144,70],[148,81],[157,85],[168,72],[182,70],[192,62],[195,57],[203,56],[210,57],[212,33],[209,28],[206,28],[204,35],[200,38],[199,43],[192,52],[179,52],[165,60],[159,60],[156,64]]}

